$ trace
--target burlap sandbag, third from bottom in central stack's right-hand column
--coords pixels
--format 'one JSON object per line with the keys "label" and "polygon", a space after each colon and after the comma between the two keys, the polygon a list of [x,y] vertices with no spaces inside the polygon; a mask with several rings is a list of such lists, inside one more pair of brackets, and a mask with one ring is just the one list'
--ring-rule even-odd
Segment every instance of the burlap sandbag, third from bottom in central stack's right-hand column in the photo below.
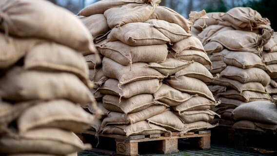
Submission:
{"label": "burlap sandbag, third from bottom in central stack's right-hand column", "polygon": [[206,110],[216,107],[220,102],[214,102],[204,97],[193,97],[180,103],[177,106],[173,106],[173,110],[177,112],[183,111],[197,111]]}

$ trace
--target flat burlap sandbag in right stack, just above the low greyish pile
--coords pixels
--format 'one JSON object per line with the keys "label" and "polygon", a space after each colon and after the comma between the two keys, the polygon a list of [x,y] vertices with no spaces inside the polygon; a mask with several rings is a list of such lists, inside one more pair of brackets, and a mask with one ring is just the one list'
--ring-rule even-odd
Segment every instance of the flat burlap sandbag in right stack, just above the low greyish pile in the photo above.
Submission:
{"label": "flat burlap sandbag in right stack, just above the low greyish pile", "polygon": [[222,96],[224,98],[237,99],[243,102],[251,102],[257,100],[272,100],[268,93],[258,93],[252,91],[243,91],[242,93],[239,93],[236,90],[226,90],[226,92],[219,93],[218,96]]}

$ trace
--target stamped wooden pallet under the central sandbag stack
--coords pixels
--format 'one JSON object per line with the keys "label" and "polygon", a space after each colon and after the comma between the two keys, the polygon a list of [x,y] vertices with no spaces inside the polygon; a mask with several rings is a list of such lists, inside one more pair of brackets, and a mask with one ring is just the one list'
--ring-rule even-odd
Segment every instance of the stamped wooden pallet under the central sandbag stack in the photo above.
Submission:
{"label": "stamped wooden pallet under the central sandbag stack", "polygon": [[[92,137],[95,136],[96,132],[94,131],[84,131],[82,132],[82,140],[84,142],[92,143]],[[154,150],[155,153],[159,154],[173,154],[178,153],[178,139],[191,139],[191,144],[194,147],[197,147],[202,150],[208,150],[211,148],[210,145],[210,137],[211,131],[198,131],[188,132],[186,135],[179,136],[179,133],[164,133],[164,134],[155,134],[155,135],[137,135],[137,136],[120,136],[120,135],[112,135],[112,134],[99,134],[99,142],[104,143],[105,146],[115,146],[114,148],[100,149],[93,148],[92,151],[102,154],[108,155],[124,155],[124,156],[139,156],[139,146],[151,146],[152,152]],[[106,138],[106,140],[105,140]],[[107,138],[114,139],[114,141],[107,140]],[[115,142],[115,145],[111,145],[111,142]],[[141,143],[141,144],[140,144]],[[95,147],[95,143],[92,143],[93,147]],[[141,147],[140,147],[141,148]]]}

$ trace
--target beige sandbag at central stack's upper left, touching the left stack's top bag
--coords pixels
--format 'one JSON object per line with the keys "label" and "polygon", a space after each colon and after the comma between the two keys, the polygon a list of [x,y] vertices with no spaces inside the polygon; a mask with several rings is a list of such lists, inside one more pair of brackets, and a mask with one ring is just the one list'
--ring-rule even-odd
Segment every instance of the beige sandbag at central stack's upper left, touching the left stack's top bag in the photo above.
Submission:
{"label": "beige sandbag at central stack's upper left, touching the left stack's top bag", "polygon": [[103,14],[96,14],[88,17],[78,17],[84,25],[88,28],[93,39],[99,36],[105,35],[110,28],[107,23],[107,19]]}

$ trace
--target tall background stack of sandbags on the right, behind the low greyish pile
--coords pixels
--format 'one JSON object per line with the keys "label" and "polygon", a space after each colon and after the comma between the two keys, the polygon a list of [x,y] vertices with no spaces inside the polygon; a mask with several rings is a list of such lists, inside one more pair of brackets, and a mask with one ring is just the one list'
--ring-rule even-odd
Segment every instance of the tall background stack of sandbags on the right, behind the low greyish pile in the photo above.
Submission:
{"label": "tall background stack of sandbags on the right, behind the low greyish pile", "polygon": [[214,109],[221,118],[211,123],[231,127],[231,114],[237,106],[256,100],[271,100],[265,90],[270,76],[266,72],[262,51],[273,30],[268,19],[248,7],[208,14],[210,19],[196,21],[198,25],[193,27],[199,30],[200,24],[207,25],[197,37],[212,61],[211,73],[219,75],[210,82],[209,88],[221,101]]}

